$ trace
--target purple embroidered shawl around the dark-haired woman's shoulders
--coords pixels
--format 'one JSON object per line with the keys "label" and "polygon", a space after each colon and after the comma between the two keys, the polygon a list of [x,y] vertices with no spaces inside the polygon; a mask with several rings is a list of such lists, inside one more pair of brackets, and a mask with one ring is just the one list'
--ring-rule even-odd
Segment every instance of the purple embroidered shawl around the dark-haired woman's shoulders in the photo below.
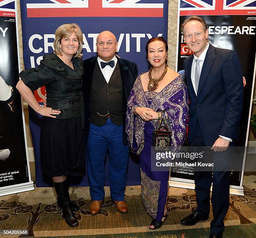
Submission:
{"label": "purple embroidered shawl around the dark-haired woman's shoulders", "polygon": [[[157,93],[151,105],[145,98],[141,84],[141,75],[136,79],[127,102],[126,133],[128,142],[133,153],[140,154],[144,147],[144,124],[140,116],[134,114],[136,107],[151,108],[154,111],[166,111],[168,114],[169,127],[173,130],[172,146],[182,146],[186,135],[188,117],[187,87],[182,76],[179,75],[171,83]],[[150,121],[156,129],[159,120]]]}

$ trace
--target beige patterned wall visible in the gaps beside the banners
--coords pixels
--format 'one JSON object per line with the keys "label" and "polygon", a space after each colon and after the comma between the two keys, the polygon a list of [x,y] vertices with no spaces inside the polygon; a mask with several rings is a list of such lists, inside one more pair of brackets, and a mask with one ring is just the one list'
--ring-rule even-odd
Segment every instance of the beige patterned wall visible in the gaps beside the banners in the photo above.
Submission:
{"label": "beige patterned wall visible in the gaps beside the banners", "polygon": [[[18,30],[19,30],[19,46],[20,46],[20,66],[21,69],[24,69],[23,63],[23,43],[22,43],[22,28],[21,28],[21,18],[20,18],[20,0],[18,2]],[[177,44],[177,9],[178,9],[178,0],[169,0],[169,11],[168,11],[168,65],[170,68],[175,70],[176,67],[176,44]],[[256,89],[254,90],[256,92]],[[255,93],[256,95],[256,93]],[[256,113],[256,105],[252,108],[252,114]],[[26,119],[26,132],[28,147],[33,147],[31,134],[28,125],[28,109],[25,108],[25,119]],[[256,135],[252,133],[251,129],[249,132],[248,140],[256,141]]]}

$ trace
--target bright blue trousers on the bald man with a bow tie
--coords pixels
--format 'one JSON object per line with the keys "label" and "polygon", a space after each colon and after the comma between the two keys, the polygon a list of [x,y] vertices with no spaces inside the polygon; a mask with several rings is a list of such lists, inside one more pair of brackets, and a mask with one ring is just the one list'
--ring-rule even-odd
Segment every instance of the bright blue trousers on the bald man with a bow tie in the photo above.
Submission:
{"label": "bright blue trousers on the bald man with a bow tie", "polygon": [[128,145],[123,144],[123,125],[110,119],[102,126],[90,123],[87,142],[87,169],[92,200],[103,200],[105,159],[109,155],[110,193],[115,201],[124,199],[129,157]]}

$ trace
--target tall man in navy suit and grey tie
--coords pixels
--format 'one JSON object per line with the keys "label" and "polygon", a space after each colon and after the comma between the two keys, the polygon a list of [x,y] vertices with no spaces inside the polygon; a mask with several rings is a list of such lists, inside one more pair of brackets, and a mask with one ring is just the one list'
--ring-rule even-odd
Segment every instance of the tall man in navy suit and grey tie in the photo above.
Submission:
{"label": "tall man in navy suit and grey tie", "polygon": [[[216,155],[225,153],[223,151],[237,139],[243,106],[241,66],[234,51],[215,48],[207,42],[207,25],[202,18],[189,17],[181,30],[193,52],[184,61],[190,97],[189,145],[210,146],[214,151],[213,162],[217,165],[223,161]],[[209,218],[211,183],[214,218],[210,238],[219,238],[229,207],[230,172],[214,170],[212,178],[211,171],[195,171],[197,210],[182,219],[181,224],[195,225]]]}

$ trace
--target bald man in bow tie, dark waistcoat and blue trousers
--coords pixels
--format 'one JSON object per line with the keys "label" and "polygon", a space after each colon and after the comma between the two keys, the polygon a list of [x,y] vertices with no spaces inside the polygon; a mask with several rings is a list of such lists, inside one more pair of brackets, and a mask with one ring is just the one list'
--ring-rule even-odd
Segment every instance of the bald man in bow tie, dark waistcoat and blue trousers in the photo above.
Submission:
{"label": "bald man in bow tie, dark waistcoat and blue trousers", "polygon": [[87,139],[87,169],[92,203],[96,215],[104,200],[104,162],[108,151],[110,192],[116,208],[128,211],[124,200],[128,165],[125,133],[127,98],[137,78],[137,65],[115,56],[115,35],[103,31],[97,37],[97,55],[84,60],[83,94]]}

